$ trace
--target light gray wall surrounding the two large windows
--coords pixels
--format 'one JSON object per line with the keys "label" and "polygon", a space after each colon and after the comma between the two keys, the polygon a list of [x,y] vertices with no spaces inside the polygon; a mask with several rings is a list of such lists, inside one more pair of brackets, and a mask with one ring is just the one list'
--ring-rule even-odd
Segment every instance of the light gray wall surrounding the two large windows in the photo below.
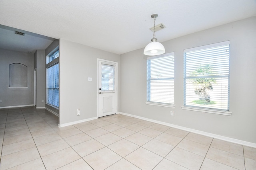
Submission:
{"label": "light gray wall surrounding the two large windows", "polygon": [[[174,52],[175,108],[146,105],[144,49],[120,57],[120,112],[256,143],[256,17],[196,32],[162,44]],[[164,30],[163,30],[164,31]],[[231,116],[182,109],[184,49],[230,40]],[[170,116],[174,111],[174,116]]]}

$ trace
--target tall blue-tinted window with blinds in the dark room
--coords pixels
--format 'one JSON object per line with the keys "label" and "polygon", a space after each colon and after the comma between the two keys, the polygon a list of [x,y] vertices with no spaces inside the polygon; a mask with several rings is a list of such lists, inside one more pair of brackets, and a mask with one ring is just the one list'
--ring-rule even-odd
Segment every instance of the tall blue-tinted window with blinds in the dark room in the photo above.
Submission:
{"label": "tall blue-tinted window with blinds in the dark room", "polygon": [[46,103],[59,107],[59,64],[46,68]]}

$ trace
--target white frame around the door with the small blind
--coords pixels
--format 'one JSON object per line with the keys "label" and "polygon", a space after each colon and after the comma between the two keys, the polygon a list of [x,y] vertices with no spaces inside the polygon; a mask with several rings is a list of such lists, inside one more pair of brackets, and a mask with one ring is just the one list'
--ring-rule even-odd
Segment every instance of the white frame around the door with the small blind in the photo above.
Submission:
{"label": "white frame around the door with the small blind", "polygon": [[99,117],[99,62],[104,61],[116,65],[116,113],[118,112],[118,63],[104,59],[97,59],[97,117]]}

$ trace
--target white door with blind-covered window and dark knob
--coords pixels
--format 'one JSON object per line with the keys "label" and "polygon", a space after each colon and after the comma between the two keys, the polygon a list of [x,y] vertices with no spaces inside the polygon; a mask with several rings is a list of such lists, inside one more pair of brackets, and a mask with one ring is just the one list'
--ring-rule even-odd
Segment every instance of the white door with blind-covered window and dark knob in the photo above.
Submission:
{"label": "white door with blind-covered window and dark knob", "polygon": [[117,63],[98,59],[98,117],[117,112]]}

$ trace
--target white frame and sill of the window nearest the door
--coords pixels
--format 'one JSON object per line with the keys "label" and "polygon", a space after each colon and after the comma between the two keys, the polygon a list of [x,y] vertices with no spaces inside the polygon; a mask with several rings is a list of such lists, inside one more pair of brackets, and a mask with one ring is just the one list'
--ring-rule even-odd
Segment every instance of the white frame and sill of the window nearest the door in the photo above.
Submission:
{"label": "white frame and sill of the window nearest the door", "polygon": [[167,56],[171,56],[172,57],[172,59],[173,59],[173,61],[172,61],[172,63],[171,64],[173,64],[173,67],[171,68],[172,70],[173,70],[173,72],[171,72],[170,74],[173,74],[173,76],[172,77],[170,77],[170,78],[168,78],[168,79],[170,79],[170,80],[173,80],[174,81],[174,52],[171,52],[171,53],[166,53],[166,54],[163,54],[163,55],[157,55],[157,56],[152,56],[152,57],[148,57],[147,58],[147,66],[146,66],[146,69],[147,69],[147,75],[146,75],[146,82],[147,82],[147,84],[146,84],[146,102],[145,102],[145,104],[147,104],[147,105],[153,105],[153,106],[162,106],[162,107],[171,107],[171,108],[175,108],[175,106],[174,106],[174,82],[173,82],[173,96],[172,96],[172,98],[173,98],[173,103],[163,103],[163,102],[152,102],[152,101],[149,101],[148,100],[148,95],[149,95],[149,92],[148,92],[148,87],[149,87],[149,85],[148,85],[148,83],[149,83],[149,81],[151,80],[151,78],[149,78],[149,75],[148,75],[148,73],[149,72],[151,72],[151,70],[149,70],[149,68],[148,68],[148,60],[151,60],[151,59],[157,59],[157,58],[162,58],[162,57],[167,57]]}

